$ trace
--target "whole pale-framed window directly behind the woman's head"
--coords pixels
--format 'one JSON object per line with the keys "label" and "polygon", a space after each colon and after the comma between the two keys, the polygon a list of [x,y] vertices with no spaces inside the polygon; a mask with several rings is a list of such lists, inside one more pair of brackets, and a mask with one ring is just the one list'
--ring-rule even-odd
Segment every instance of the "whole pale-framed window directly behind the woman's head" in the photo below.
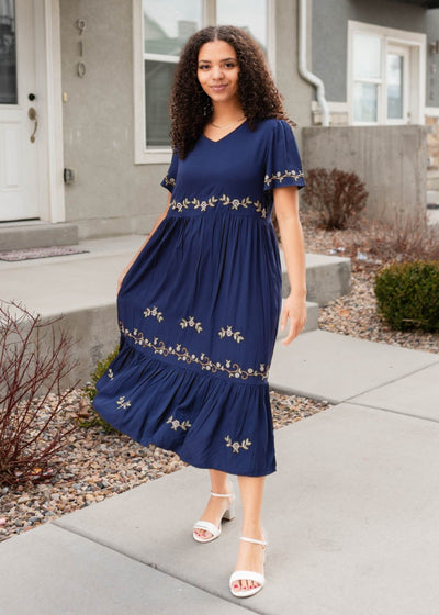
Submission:
{"label": "whole pale-framed window directly behind the woman's head", "polygon": [[136,163],[165,163],[170,158],[168,101],[179,56],[188,38],[206,25],[236,25],[251,34],[270,60],[272,2],[133,0]]}

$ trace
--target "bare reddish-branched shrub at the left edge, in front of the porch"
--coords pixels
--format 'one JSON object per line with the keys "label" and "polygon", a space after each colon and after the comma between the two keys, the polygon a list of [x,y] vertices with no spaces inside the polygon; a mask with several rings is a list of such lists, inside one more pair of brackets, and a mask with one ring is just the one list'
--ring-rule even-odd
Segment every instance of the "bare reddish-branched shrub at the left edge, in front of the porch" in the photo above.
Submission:
{"label": "bare reddish-branched shrub at the left edge, in front of the porch", "polygon": [[79,383],[61,390],[78,361],[70,359],[71,338],[54,326],[60,318],[42,322],[20,303],[0,300],[0,484],[52,478],[54,455],[77,429],[47,433]]}

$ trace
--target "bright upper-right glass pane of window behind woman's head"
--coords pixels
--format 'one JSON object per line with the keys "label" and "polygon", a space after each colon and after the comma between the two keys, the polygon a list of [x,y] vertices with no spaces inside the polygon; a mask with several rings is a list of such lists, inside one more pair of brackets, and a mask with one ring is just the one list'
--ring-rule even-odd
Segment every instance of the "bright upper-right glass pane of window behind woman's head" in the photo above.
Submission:
{"label": "bright upper-right glass pane of window behind woman's head", "polygon": [[267,55],[267,0],[216,0],[216,22],[246,30]]}

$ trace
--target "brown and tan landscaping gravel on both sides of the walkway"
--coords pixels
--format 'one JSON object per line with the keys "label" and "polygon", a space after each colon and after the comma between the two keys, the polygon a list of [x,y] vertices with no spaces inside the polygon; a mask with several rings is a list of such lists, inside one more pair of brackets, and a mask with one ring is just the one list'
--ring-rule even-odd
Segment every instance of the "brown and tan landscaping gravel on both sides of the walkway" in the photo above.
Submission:
{"label": "brown and tan landscaping gravel on both sides of the walkway", "polygon": [[[394,332],[378,316],[373,279],[383,261],[375,256],[352,253],[349,231],[330,233],[304,225],[304,234],[307,251],[351,258],[351,291],[320,309],[319,328],[428,353],[439,351],[439,334]],[[326,401],[275,391],[270,392],[270,398],[274,428],[330,407]],[[76,389],[50,423],[49,435],[55,434],[58,426],[75,424],[85,413],[81,391]],[[44,418],[43,412],[38,421]],[[0,485],[0,541],[184,466],[173,452],[155,446],[144,447],[128,436],[105,433],[101,426],[78,426],[68,436],[65,448],[53,458],[54,473],[46,482]]]}

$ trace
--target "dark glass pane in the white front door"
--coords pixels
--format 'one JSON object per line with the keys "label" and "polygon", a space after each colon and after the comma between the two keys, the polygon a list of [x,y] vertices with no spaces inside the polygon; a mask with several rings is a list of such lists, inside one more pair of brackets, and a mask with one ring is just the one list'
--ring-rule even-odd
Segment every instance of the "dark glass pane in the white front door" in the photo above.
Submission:
{"label": "dark glass pane in the white front door", "polygon": [[15,5],[0,0],[0,104],[16,104]]}

